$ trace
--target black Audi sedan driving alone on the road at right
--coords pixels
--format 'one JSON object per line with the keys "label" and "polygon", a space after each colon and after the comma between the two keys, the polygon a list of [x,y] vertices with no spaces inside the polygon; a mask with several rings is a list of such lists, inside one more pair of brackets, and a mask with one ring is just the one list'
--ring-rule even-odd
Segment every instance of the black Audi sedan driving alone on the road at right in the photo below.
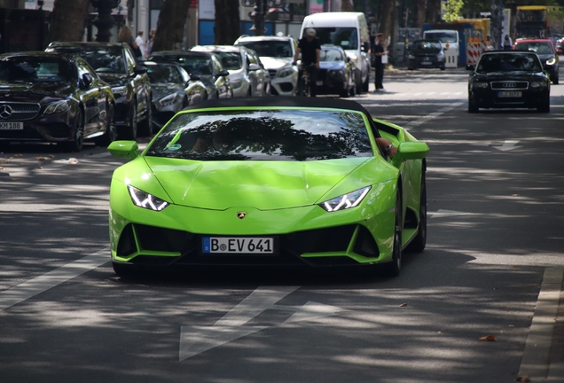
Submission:
{"label": "black Audi sedan driving alone on the road at right", "polygon": [[551,81],[531,51],[486,51],[468,80],[468,112],[537,108],[550,112]]}

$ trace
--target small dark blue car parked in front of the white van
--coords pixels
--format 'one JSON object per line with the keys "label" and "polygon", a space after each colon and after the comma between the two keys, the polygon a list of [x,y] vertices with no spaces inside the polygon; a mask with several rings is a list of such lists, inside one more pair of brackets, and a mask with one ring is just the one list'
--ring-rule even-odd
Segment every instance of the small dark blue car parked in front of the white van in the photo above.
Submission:
{"label": "small dark blue car parked in front of the white van", "polygon": [[322,45],[319,53],[317,94],[338,94],[343,98],[355,96],[354,66],[340,46]]}

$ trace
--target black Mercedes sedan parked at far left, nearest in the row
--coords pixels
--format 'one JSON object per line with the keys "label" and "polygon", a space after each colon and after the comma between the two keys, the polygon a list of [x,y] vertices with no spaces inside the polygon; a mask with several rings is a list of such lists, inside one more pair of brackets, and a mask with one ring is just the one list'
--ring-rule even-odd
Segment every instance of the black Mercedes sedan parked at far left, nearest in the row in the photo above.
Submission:
{"label": "black Mercedes sedan parked at far left, nearest in the row", "polygon": [[115,139],[110,86],[78,56],[27,51],[0,55],[0,145],[50,142],[80,152],[85,139]]}

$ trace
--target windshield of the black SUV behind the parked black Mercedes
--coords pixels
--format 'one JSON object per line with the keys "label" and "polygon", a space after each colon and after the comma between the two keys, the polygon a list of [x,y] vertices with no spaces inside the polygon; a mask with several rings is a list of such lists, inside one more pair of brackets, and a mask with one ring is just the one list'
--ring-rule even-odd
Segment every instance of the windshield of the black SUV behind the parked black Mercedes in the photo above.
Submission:
{"label": "windshield of the black SUV behind the parked black Mercedes", "polygon": [[120,46],[115,47],[53,47],[52,51],[75,53],[85,59],[98,73],[126,74],[123,52]]}

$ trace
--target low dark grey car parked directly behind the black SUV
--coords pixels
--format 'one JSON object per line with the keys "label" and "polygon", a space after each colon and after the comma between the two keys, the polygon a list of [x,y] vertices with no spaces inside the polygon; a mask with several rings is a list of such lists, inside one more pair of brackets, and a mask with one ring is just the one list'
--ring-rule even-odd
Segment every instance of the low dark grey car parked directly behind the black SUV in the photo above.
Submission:
{"label": "low dark grey car parked directly behind the black SUV", "polygon": [[184,107],[206,99],[206,85],[175,63],[145,61],[153,90],[153,129],[161,129]]}

